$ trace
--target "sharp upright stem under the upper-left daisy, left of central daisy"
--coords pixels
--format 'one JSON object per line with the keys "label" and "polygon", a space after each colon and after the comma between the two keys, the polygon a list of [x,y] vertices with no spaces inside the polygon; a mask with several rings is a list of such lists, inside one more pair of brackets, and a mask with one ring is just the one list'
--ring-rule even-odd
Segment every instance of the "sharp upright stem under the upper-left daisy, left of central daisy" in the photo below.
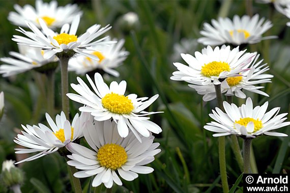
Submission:
{"label": "sharp upright stem under the upper-left daisy, left of central daisy", "polygon": [[69,118],[69,98],[66,95],[69,92],[68,62],[69,58],[60,58],[62,75],[62,108],[67,118]]}

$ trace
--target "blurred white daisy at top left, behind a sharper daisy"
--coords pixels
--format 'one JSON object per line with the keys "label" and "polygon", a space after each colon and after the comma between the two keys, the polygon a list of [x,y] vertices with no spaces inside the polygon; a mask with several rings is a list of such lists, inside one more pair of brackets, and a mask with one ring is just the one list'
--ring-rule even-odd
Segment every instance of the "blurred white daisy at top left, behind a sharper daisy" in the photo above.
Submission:
{"label": "blurred white daisy at top left, behind a sharper daisy", "polygon": [[25,5],[21,8],[15,4],[14,9],[16,12],[10,12],[8,20],[14,25],[27,27],[25,21],[30,21],[38,28],[41,27],[39,19],[42,19],[50,29],[55,27],[61,27],[65,23],[71,23],[73,18],[77,15],[81,15],[77,5],[67,4],[65,7],[57,7],[56,1],[43,3],[41,0],[35,2],[35,7],[31,5]]}

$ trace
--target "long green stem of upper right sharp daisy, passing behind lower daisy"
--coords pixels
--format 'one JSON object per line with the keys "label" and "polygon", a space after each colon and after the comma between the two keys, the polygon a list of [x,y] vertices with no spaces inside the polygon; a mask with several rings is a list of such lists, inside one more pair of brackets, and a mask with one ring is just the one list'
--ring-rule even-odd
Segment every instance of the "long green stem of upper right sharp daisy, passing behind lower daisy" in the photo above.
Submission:
{"label": "long green stem of upper right sharp daisy, passing behind lower daisy", "polygon": [[[224,111],[222,105],[222,95],[221,95],[221,87],[220,85],[215,85],[216,96],[217,96],[217,106]],[[221,176],[221,184],[223,192],[228,192],[228,183],[227,183],[227,176],[226,176],[226,163],[225,163],[225,137],[220,136],[218,137],[218,154],[219,154],[219,170]]]}

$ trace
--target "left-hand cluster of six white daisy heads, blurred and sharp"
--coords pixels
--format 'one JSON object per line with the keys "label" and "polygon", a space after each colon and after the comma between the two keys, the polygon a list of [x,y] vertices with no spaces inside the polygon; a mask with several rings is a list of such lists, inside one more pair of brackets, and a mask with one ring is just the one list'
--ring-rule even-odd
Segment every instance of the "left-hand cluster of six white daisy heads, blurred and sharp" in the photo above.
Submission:
{"label": "left-hand cluster of six white daisy heads, blurred and sharp", "polygon": [[[82,35],[76,35],[82,12],[76,5],[57,7],[56,1],[36,1],[36,9],[30,5],[14,6],[8,19],[19,26],[14,35],[19,45],[18,52],[10,52],[14,58],[1,58],[3,76],[11,76],[28,70],[39,72],[54,70],[52,63],[68,60],[68,70],[77,74],[93,72],[94,80],[86,74],[90,86],[77,77],[78,85],[71,87],[79,94],[65,93],[70,99],[84,104],[70,122],[68,115],[61,112],[55,121],[46,113],[48,125],[21,125],[23,130],[14,142],[25,148],[16,148],[16,154],[37,154],[18,160],[15,164],[31,161],[60,152],[70,160],[70,166],[80,170],[77,178],[95,176],[92,186],[103,183],[111,188],[113,183],[122,185],[120,179],[132,181],[138,174],[154,170],[144,166],[154,160],[160,152],[159,143],[153,143],[152,133],[162,129],[150,121],[149,115],[162,112],[144,111],[157,98],[138,98],[136,94],[125,95],[127,83],[112,81],[108,86],[98,70],[119,76],[114,68],[126,60],[129,52],[124,39],[99,38],[111,29],[106,25],[92,25]],[[70,24],[69,24],[70,23]],[[28,27],[29,31],[22,27]],[[55,30],[61,27],[60,33]],[[72,58],[73,57],[73,58]],[[79,145],[84,137],[91,149]],[[68,153],[68,151],[69,153]]]}

